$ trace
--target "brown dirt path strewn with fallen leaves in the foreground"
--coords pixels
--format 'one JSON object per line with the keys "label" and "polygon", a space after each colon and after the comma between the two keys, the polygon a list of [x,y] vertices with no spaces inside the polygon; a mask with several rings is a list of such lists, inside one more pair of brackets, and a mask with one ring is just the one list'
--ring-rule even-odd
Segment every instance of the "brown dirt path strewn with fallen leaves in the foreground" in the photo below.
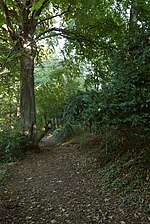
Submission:
{"label": "brown dirt path strewn with fallen leaves in the foreground", "polygon": [[98,148],[64,144],[8,165],[0,184],[0,224],[148,224],[142,203],[101,181]]}

